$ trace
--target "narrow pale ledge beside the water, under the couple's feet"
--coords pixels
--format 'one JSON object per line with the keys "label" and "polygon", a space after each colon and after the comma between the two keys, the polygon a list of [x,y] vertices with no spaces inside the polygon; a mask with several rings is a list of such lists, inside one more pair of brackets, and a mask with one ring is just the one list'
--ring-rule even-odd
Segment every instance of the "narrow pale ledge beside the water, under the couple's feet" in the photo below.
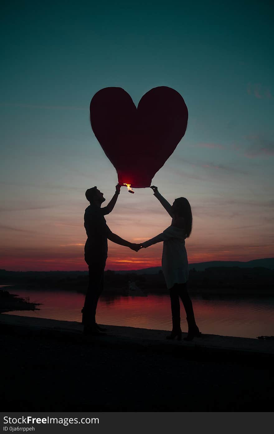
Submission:
{"label": "narrow pale ledge beside the water, under the couple's feet", "polygon": [[[122,325],[103,325],[107,328],[106,336],[83,335],[84,326],[77,321],[61,321],[58,319],[46,319],[39,317],[17,316],[0,314],[0,327],[16,331],[26,335],[48,335],[53,338],[67,336],[71,339],[98,340],[107,344],[125,344],[129,342],[136,345],[161,345],[165,349],[170,346],[181,346],[185,349],[195,347],[199,351],[219,351],[228,353],[242,353],[242,355],[260,355],[274,358],[274,341],[264,341],[255,338],[241,338],[236,336],[207,335],[202,334],[201,338],[194,338],[193,341],[166,340],[167,330],[144,329]],[[182,338],[187,335],[182,333]]]}

